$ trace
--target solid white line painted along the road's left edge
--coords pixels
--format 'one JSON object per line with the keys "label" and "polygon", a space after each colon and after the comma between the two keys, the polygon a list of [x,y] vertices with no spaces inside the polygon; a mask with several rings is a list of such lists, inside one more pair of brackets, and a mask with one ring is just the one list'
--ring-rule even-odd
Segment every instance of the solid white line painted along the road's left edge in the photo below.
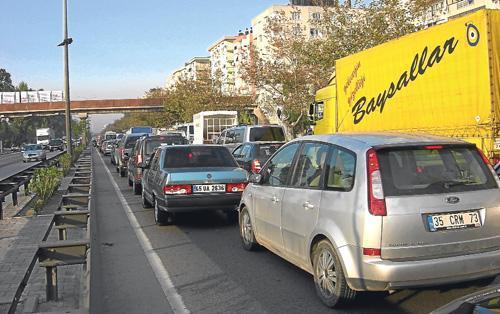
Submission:
{"label": "solid white line painted along the road's left edge", "polygon": [[184,304],[184,301],[182,301],[182,297],[180,296],[179,293],[177,293],[177,290],[175,289],[174,284],[172,283],[172,280],[170,279],[170,276],[163,266],[163,263],[161,262],[160,257],[158,254],[153,249],[153,246],[151,245],[151,242],[149,241],[148,237],[142,231],[142,228],[135,218],[134,213],[132,212],[132,209],[127,203],[127,200],[125,199],[125,196],[123,196],[122,192],[120,191],[120,187],[118,184],[115,182],[115,179],[111,175],[111,172],[109,171],[108,167],[106,166],[106,163],[102,159],[101,154],[99,154],[99,159],[101,160],[101,163],[104,166],[104,169],[106,169],[106,172],[108,174],[109,179],[111,180],[111,184],[113,185],[113,188],[115,189],[118,198],[120,199],[120,202],[122,203],[122,208],[125,211],[125,214],[127,215],[127,218],[130,222],[130,225],[132,226],[132,229],[134,229],[135,235],[137,236],[137,239],[139,240],[139,243],[141,244],[142,250],[144,251],[144,254],[146,255],[149,264],[151,265],[151,268],[153,269],[153,273],[156,276],[156,279],[160,283],[160,286],[163,290],[163,294],[167,297],[168,303],[172,307],[172,310],[174,313],[190,313],[189,310],[186,308],[186,305]]}

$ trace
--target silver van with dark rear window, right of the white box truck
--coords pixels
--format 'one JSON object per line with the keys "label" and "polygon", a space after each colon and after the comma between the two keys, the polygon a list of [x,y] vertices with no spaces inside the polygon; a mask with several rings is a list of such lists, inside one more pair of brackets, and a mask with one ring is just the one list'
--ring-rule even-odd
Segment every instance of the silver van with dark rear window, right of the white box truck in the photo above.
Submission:
{"label": "silver van with dark rear window, right of the white box truck", "polygon": [[240,125],[225,129],[214,140],[233,151],[238,145],[247,142],[284,142],[285,131],[279,125]]}

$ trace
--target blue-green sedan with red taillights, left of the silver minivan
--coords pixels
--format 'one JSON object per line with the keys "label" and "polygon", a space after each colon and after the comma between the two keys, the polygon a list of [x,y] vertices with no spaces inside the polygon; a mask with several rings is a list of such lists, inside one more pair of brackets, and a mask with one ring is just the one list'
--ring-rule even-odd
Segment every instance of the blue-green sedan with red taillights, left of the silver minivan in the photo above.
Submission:
{"label": "blue-green sedan with red taillights, left of the silver minivan", "polygon": [[161,145],[142,168],[142,204],[154,207],[159,225],[192,211],[224,211],[232,219],[248,182],[247,172],[218,145]]}

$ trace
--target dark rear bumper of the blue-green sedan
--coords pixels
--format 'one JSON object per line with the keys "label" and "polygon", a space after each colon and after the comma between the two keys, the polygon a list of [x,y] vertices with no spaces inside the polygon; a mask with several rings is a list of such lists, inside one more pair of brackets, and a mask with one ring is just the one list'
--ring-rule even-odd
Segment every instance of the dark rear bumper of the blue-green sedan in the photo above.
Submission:
{"label": "dark rear bumper of the blue-green sedan", "polygon": [[167,196],[158,200],[158,206],[168,212],[234,210],[240,200],[241,193],[191,194]]}

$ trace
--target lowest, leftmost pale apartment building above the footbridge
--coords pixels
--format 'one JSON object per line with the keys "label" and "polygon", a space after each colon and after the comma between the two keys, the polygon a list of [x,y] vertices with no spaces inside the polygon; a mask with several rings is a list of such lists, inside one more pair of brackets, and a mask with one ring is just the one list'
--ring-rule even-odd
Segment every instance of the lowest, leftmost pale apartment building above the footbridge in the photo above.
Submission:
{"label": "lowest, leftmost pale apartment building above the footbridge", "polygon": [[194,57],[167,77],[165,88],[173,88],[180,81],[196,81],[209,76],[210,57]]}

